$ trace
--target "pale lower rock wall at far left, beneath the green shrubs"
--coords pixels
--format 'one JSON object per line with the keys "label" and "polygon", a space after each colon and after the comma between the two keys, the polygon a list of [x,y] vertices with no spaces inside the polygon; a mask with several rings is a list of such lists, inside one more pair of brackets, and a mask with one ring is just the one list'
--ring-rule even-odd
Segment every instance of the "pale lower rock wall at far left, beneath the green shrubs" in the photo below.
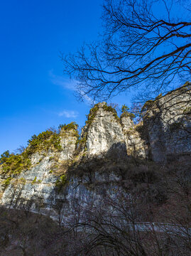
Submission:
{"label": "pale lower rock wall at far left, beneath the green shrubs", "polygon": [[[36,154],[38,158],[38,155]],[[23,171],[17,180],[13,180],[6,188],[1,198],[4,205],[24,207],[26,202],[31,203],[31,208],[49,204],[49,198],[55,187],[56,176],[50,174],[50,157],[45,156],[40,164],[36,164],[30,170]]]}

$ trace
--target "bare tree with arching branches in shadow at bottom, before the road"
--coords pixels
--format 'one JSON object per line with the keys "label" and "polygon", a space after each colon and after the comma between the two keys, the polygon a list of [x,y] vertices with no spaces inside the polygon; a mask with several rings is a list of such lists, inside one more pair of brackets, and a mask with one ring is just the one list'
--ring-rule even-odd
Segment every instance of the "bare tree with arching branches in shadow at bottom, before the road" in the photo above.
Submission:
{"label": "bare tree with arching branches in shadow at bottom, before the road", "polygon": [[[70,219],[77,230],[70,237],[68,255],[134,255],[169,256],[190,253],[190,228],[176,219],[170,224],[153,223],[137,199],[118,191],[116,196],[107,194],[94,205],[73,209],[78,222]],[[143,210],[144,209],[144,210]],[[77,211],[76,211],[77,210]],[[171,214],[172,215],[172,214]],[[170,217],[172,217],[170,215]],[[175,214],[174,214],[175,215]],[[146,222],[140,222],[147,218]]]}

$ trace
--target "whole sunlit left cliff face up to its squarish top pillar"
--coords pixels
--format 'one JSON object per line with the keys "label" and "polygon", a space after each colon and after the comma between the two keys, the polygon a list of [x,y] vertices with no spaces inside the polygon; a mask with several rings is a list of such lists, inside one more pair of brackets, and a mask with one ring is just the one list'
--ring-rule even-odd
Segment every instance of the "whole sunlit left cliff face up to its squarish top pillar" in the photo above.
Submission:
{"label": "whole sunlit left cliff face up to its squarish top pillar", "polygon": [[[1,189],[1,203],[11,207],[30,208],[47,213],[53,208],[58,191],[55,182],[59,178],[57,174],[59,166],[63,161],[72,158],[75,151],[77,137],[75,131],[60,133],[60,145],[62,150],[41,151],[31,156],[31,168],[23,170],[5,191]],[[1,181],[6,177],[1,176]]]}

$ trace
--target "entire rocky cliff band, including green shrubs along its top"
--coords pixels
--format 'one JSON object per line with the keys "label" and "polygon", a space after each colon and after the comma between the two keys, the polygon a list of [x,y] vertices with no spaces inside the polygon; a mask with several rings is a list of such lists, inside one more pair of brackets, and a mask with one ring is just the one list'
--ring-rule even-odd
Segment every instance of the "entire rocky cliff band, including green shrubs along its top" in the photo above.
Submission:
{"label": "entire rocky cliff band, including green shrubs along its top", "polygon": [[190,99],[189,86],[160,95],[146,102],[137,125],[102,102],[90,110],[80,137],[74,123],[34,137],[21,155],[1,161],[1,204],[58,216],[61,202],[67,215],[75,201],[125,189],[131,159],[190,154]]}

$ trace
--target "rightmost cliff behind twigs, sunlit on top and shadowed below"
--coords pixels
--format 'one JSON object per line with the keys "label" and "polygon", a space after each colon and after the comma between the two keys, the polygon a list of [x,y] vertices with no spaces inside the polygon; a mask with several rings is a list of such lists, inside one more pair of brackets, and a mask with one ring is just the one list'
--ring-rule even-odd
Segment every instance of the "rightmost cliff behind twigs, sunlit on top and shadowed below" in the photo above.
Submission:
{"label": "rightmost cliff behind twigs, sunlit on top and shadowed below", "polygon": [[191,92],[182,87],[155,100],[143,119],[153,161],[191,153]]}

